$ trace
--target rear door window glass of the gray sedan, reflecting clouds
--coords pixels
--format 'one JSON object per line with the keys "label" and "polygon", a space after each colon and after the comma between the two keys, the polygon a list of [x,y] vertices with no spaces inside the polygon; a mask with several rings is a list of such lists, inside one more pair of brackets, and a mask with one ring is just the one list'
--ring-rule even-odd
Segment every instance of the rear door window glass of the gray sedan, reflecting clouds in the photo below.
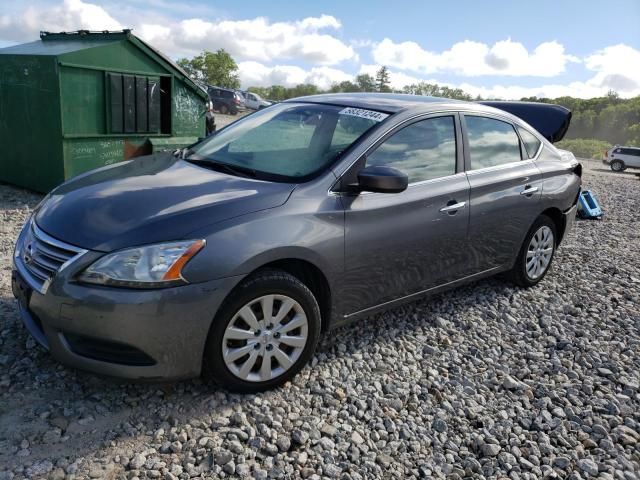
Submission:
{"label": "rear door window glass of the gray sedan, reflecting clouds", "polygon": [[465,121],[472,170],[521,160],[520,139],[510,123],[473,116]]}

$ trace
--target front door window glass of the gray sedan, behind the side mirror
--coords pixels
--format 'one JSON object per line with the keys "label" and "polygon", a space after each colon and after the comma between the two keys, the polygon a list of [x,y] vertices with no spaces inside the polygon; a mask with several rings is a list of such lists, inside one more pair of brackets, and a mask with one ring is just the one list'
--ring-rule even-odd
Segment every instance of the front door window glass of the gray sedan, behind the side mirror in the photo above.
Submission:
{"label": "front door window glass of the gray sedan, behind the side mirror", "polygon": [[456,172],[453,117],[429,118],[395,133],[367,156],[367,165],[388,165],[406,173],[409,183]]}

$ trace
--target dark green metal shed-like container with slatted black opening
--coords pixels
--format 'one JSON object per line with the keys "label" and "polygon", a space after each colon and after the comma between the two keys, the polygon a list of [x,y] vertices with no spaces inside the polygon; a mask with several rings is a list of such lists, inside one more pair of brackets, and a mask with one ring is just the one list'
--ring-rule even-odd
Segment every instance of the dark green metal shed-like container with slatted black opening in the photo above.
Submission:
{"label": "dark green metal shed-like container with slatted black opening", "polygon": [[0,182],[46,192],[84,171],[205,135],[206,92],[121,32],[0,49]]}

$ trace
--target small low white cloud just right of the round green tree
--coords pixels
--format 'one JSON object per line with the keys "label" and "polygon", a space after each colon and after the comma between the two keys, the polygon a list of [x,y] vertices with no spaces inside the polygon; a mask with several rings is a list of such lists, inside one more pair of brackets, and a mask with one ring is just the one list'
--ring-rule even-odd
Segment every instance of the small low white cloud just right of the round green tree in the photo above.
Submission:
{"label": "small low white cloud just right of the round green tree", "polygon": [[313,67],[310,70],[293,65],[268,67],[259,62],[247,61],[238,64],[240,83],[243,87],[266,87],[283,85],[293,87],[301,83],[311,83],[321,89],[328,89],[334,83],[353,79],[353,75],[331,67]]}

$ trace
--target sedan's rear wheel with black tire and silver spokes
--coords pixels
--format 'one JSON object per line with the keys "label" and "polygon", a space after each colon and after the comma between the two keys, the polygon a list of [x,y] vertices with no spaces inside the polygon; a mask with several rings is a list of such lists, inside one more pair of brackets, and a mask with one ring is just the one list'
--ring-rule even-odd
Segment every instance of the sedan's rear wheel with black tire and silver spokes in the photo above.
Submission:
{"label": "sedan's rear wheel with black tire and silver spokes", "polygon": [[[548,237],[548,234],[551,237]],[[558,245],[556,225],[546,215],[540,215],[533,223],[520,247],[518,258],[507,278],[519,287],[529,288],[538,284],[547,274]],[[534,245],[534,239],[540,245]],[[542,242],[542,244],[541,244]],[[550,252],[547,252],[548,249]]]}

